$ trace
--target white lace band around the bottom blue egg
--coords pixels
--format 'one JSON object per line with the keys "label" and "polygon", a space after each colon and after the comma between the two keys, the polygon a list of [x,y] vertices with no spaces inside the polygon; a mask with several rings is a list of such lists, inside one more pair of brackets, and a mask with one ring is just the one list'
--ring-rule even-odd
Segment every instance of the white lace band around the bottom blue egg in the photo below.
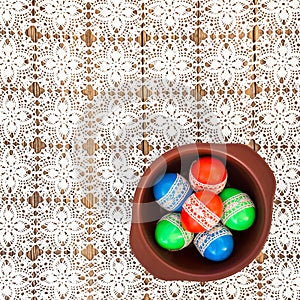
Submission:
{"label": "white lace band around the bottom blue egg", "polygon": [[202,232],[198,233],[194,239],[194,245],[197,247],[201,255],[204,255],[204,251],[210,243],[221,236],[232,235],[229,230],[227,230],[222,225],[218,224],[212,228],[209,233]]}

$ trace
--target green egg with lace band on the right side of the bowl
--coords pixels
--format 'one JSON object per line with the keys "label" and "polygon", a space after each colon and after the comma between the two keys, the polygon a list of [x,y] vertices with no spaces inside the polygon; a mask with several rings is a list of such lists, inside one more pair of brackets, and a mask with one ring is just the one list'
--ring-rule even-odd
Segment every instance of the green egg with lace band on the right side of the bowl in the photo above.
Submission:
{"label": "green egg with lace band on the right side of the bowl", "polygon": [[224,212],[221,222],[233,230],[246,230],[255,220],[255,207],[250,197],[234,188],[225,188],[220,194]]}

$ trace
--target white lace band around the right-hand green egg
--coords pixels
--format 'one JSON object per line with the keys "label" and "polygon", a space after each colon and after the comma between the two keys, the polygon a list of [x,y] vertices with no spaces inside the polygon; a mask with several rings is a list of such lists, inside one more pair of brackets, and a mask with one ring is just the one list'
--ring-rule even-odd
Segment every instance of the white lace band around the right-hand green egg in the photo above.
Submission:
{"label": "white lace band around the right-hand green egg", "polygon": [[223,201],[224,211],[221,218],[223,224],[225,224],[233,215],[239,213],[245,208],[254,207],[254,203],[250,197],[245,193],[232,196]]}

